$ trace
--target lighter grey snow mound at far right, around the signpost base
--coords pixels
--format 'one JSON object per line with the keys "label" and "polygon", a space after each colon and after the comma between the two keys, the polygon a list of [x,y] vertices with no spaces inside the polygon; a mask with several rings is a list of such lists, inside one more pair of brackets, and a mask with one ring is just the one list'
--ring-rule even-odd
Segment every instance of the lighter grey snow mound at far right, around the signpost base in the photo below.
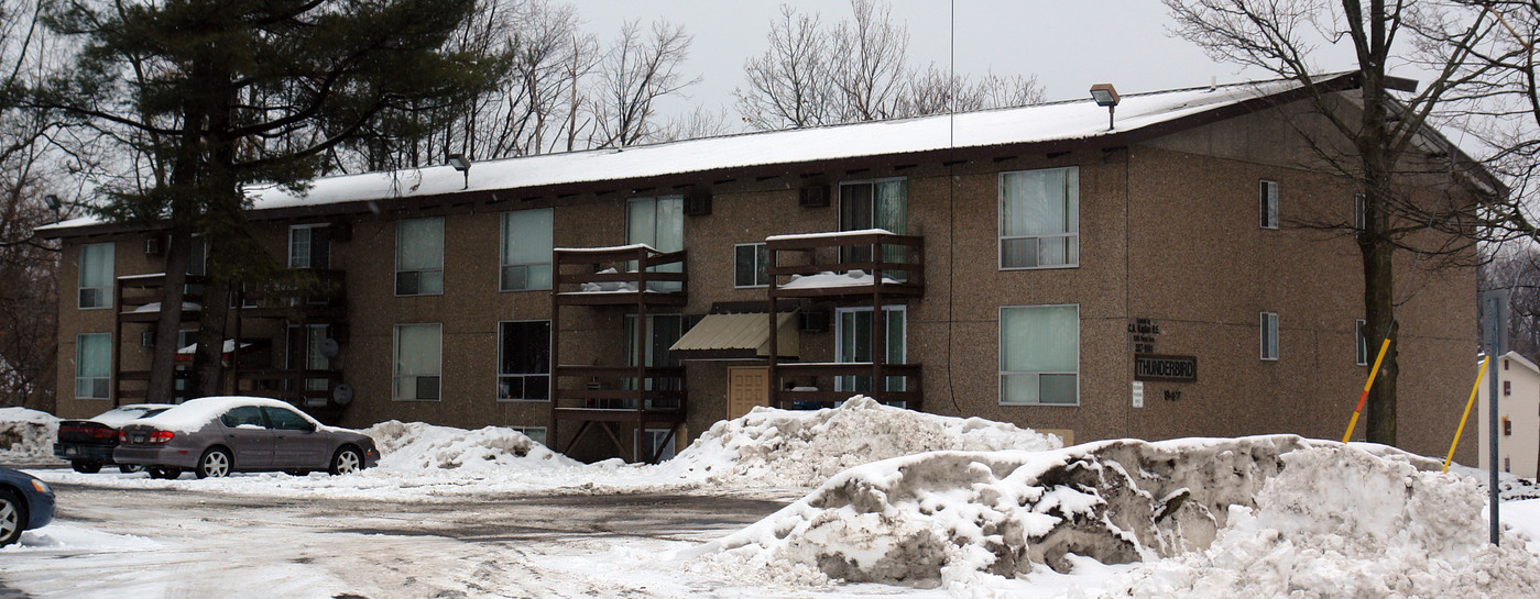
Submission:
{"label": "lighter grey snow mound at far right, around the signpost base", "polygon": [[1540,559],[1523,541],[1486,542],[1475,481],[1341,445],[1283,461],[1212,547],[1135,570],[1112,596],[1540,596]]}

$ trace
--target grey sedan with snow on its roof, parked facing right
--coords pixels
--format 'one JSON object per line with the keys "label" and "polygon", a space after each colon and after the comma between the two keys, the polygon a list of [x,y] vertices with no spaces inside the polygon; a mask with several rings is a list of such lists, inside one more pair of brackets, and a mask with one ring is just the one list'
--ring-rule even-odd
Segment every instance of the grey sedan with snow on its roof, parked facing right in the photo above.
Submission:
{"label": "grey sedan with snow on its roof, parked facing right", "polygon": [[346,475],[379,462],[374,439],[316,422],[268,398],[200,398],[119,430],[112,459],[139,464],[151,478],[197,478],[234,472],[326,470]]}

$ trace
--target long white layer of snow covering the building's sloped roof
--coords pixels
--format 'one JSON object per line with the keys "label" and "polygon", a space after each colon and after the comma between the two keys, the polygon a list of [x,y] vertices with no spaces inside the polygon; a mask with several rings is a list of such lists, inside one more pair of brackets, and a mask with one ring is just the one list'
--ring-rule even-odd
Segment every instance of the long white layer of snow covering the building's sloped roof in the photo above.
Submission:
{"label": "long white layer of snow covering the building's sloped roof", "polygon": [[[1323,77],[1348,81],[1351,74]],[[1343,84],[1344,88],[1351,84]],[[1298,89],[1292,80],[1247,81],[1223,86],[1124,94],[1113,127],[1107,111],[1093,100],[1070,100],[1021,108],[870,121],[824,127],[722,135],[701,140],[547,154],[471,164],[468,174],[430,166],[394,172],[326,177],[303,195],[279,186],[248,190],[254,210],[293,209],[351,201],[374,201],[454,194],[487,194],[564,184],[645,180],[664,175],[728,170],[770,164],[902,155],[969,147],[1075,141],[1129,134],[1184,117],[1274,97]],[[468,175],[468,177],[467,177]],[[38,232],[97,224],[94,217],[38,227]]]}

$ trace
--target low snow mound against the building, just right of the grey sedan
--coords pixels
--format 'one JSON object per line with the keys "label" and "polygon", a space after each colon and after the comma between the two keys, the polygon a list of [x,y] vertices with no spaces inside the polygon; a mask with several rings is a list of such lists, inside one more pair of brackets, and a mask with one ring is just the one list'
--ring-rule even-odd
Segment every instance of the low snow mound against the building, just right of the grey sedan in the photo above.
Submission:
{"label": "low snow mound against the building, just right of the grey sedan", "polygon": [[380,448],[383,470],[488,470],[582,465],[524,433],[485,427],[465,430],[387,421],[362,430]]}

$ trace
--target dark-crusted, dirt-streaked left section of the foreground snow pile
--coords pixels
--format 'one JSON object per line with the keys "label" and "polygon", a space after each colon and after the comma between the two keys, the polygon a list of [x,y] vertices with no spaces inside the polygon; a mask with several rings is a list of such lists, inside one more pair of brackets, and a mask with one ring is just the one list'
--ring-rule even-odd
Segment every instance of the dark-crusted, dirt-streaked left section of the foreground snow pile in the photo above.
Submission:
{"label": "dark-crusted, dirt-streaked left section of the foreground snow pile", "polygon": [[1070,553],[1103,564],[1166,558],[1207,547],[1229,505],[1255,505],[1280,456],[1307,444],[1278,435],[895,458],[835,476],[693,554],[713,567],[902,584],[1066,571]]}

